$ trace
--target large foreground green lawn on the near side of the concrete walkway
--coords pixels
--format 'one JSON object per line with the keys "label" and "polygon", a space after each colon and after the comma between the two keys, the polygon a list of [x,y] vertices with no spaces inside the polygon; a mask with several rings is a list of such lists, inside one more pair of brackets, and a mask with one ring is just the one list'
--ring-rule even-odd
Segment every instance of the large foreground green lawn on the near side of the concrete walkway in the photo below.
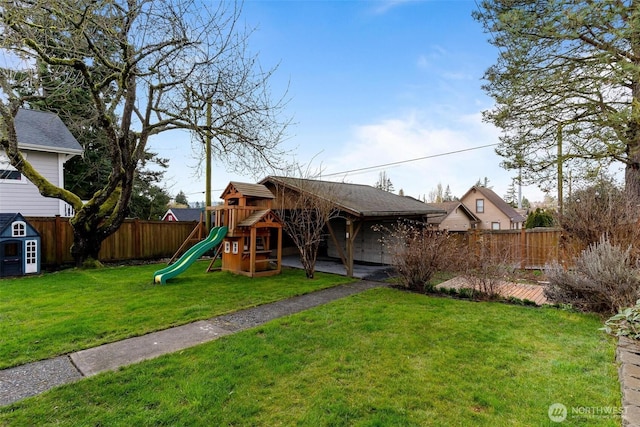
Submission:
{"label": "large foreground green lawn on the near side of the concrete walkway", "polygon": [[552,308],[376,289],[0,408],[0,425],[619,426],[614,340]]}

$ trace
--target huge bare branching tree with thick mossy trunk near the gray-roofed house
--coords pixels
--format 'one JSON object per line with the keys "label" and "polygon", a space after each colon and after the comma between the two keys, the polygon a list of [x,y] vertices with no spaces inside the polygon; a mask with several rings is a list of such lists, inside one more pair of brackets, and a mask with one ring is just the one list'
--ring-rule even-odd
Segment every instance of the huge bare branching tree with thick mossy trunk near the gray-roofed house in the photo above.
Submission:
{"label": "huge bare branching tree with thick mossy trunk near the gray-roofed house", "polygon": [[[45,197],[76,211],[76,264],[97,260],[127,214],[149,138],[187,130],[236,169],[278,163],[288,121],[238,28],[235,3],[192,0],[15,0],[0,9],[0,147]],[[59,84],[43,90],[43,70]],[[18,148],[14,118],[32,101],[88,91],[92,121],[106,137],[111,173],[83,203],[39,173]],[[210,106],[211,114],[205,114]],[[208,116],[208,117],[207,117]],[[206,122],[205,122],[206,119]],[[205,124],[206,123],[206,124]]]}

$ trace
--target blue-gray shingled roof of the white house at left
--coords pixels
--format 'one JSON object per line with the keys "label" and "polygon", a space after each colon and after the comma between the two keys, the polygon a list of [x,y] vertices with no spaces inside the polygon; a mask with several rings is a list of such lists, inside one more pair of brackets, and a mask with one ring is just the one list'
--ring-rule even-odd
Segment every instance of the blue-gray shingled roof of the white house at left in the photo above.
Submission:
{"label": "blue-gray shingled roof of the white house at left", "polygon": [[15,125],[22,149],[82,154],[82,146],[56,114],[23,108],[18,110]]}

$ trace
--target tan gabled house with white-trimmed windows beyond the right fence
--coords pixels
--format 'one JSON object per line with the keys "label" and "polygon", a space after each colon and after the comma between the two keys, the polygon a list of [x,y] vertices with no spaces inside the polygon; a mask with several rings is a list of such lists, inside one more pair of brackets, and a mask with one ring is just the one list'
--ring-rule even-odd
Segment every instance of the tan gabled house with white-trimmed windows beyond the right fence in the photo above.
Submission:
{"label": "tan gabled house with white-trimmed windows beyond the right fence", "polygon": [[490,188],[474,185],[460,198],[480,222],[483,230],[519,230],[525,217],[519,214]]}

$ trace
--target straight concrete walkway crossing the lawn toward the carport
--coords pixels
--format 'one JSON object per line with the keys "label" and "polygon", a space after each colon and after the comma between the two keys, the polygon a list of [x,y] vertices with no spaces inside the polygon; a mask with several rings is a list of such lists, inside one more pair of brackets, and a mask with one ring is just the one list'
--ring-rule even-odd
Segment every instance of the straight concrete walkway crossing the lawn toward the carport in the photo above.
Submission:
{"label": "straight concrete walkway crossing the lawn toward the carport", "polygon": [[386,285],[372,281],[336,286],[209,320],[77,351],[54,359],[5,369],[0,371],[0,406],[9,405],[84,377],[213,341],[278,317],[383,286]]}

